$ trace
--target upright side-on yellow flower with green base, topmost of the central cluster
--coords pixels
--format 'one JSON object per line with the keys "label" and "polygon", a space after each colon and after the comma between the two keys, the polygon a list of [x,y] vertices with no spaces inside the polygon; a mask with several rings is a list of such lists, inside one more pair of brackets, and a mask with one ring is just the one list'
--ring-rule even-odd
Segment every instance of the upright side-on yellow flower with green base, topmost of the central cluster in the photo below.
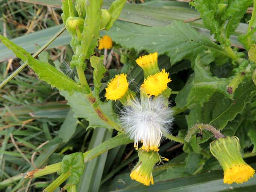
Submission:
{"label": "upright side-on yellow flower with green base, topmost of the central cluster", "polygon": [[159,72],[157,63],[157,52],[150,53],[149,55],[140,56],[140,58],[136,59],[136,63],[143,69],[145,77]]}

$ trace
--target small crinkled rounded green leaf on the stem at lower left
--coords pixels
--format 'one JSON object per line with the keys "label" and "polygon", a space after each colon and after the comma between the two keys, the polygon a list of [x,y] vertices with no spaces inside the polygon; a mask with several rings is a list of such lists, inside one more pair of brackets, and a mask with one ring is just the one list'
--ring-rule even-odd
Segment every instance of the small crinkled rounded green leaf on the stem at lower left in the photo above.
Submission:
{"label": "small crinkled rounded green leaf on the stem at lower left", "polygon": [[70,172],[70,177],[66,185],[76,185],[80,181],[80,177],[84,172],[84,156],[83,153],[73,153],[65,155],[61,161],[61,172]]}

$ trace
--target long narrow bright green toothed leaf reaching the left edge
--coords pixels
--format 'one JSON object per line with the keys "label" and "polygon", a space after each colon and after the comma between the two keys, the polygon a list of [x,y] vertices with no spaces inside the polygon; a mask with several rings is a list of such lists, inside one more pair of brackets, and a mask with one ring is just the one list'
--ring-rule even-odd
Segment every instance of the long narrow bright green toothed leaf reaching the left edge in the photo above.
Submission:
{"label": "long narrow bright green toothed leaf reaching the left edge", "polygon": [[58,88],[58,90],[66,90],[71,95],[75,92],[83,91],[83,88],[80,85],[76,84],[75,81],[65,76],[49,63],[38,61],[37,59],[33,58],[28,52],[26,52],[25,49],[17,46],[3,35],[0,35],[0,40],[23,62],[27,62],[29,67],[35,71],[35,73],[39,76],[39,79],[42,81],[47,82],[52,87]]}

